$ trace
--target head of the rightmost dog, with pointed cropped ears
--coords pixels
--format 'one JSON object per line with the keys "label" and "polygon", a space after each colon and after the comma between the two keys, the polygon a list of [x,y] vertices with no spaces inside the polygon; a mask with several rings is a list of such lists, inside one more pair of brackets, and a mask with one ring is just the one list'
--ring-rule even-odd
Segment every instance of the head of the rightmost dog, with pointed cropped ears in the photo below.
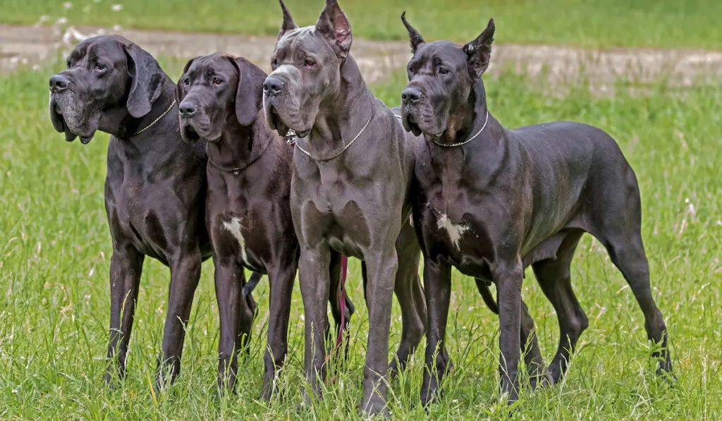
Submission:
{"label": "head of the rightmost dog, with pointed cropped ears", "polygon": [[414,55],[406,67],[409,84],[401,92],[401,121],[406,131],[432,137],[444,133],[453,139],[468,115],[470,95],[489,66],[494,38],[494,20],[477,39],[460,45],[451,41],[426,43],[406,16],[401,20],[409,31]]}

